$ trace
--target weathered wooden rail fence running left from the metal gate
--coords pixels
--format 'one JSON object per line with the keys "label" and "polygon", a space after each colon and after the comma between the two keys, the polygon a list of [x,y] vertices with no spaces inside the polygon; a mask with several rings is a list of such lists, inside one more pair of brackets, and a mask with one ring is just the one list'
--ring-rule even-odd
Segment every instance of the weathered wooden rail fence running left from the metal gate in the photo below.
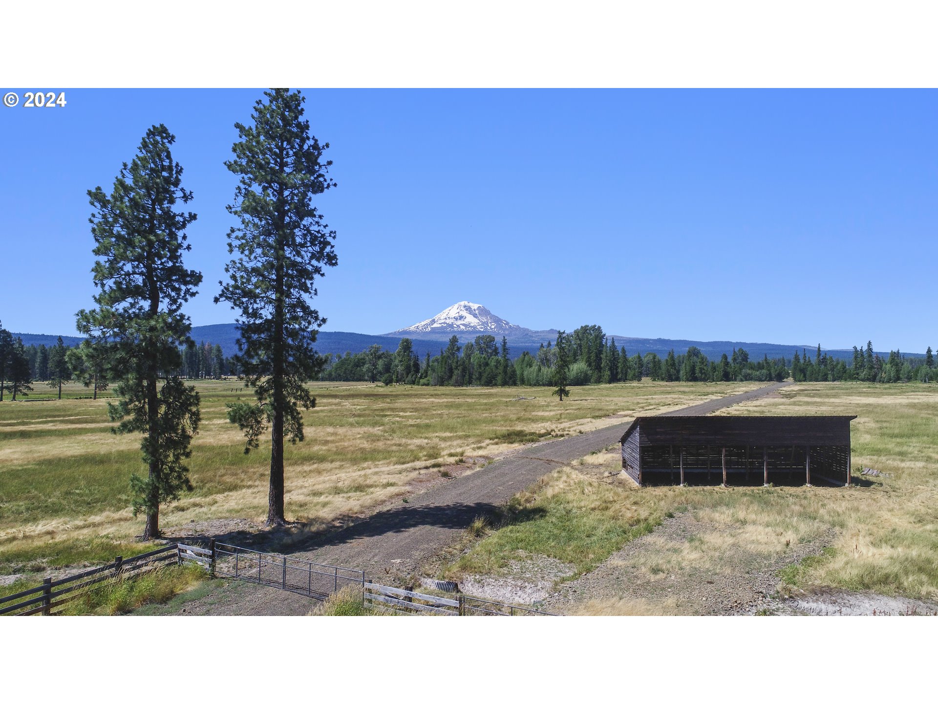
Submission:
{"label": "weathered wooden rail fence running left from the metal gate", "polygon": [[62,579],[46,577],[39,587],[5,596],[0,599],[0,615],[32,616],[41,614],[43,616],[53,616],[60,613],[62,607],[68,602],[82,596],[85,590],[101,582],[173,561],[177,564],[197,562],[211,572],[214,564],[213,556],[214,545],[206,550],[204,547],[196,547],[195,545],[173,543],[164,545],[157,550],[151,550],[143,555],[135,555],[132,558],[117,557],[113,562],[103,567],[85,570]]}

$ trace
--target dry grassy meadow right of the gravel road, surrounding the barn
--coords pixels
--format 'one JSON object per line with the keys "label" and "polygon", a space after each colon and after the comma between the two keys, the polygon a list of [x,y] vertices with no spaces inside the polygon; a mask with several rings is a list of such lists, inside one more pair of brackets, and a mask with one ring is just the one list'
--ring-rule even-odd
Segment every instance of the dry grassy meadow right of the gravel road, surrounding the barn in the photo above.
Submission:
{"label": "dry grassy meadow right of the gravel road, surrounding the barn", "polygon": [[[828,542],[824,553],[783,569],[783,583],[938,598],[938,385],[798,384],[719,413],[858,416],[855,485],[639,488],[613,476],[616,447],[559,468],[515,497],[504,525],[467,536],[463,554],[442,574],[499,574],[512,560],[544,555],[571,565],[567,578],[574,578],[665,516],[689,511],[710,528],[679,549],[649,551],[640,565],[649,580],[688,569],[719,572],[734,552],[783,556],[795,543],[820,539]],[[860,477],[862,467],[885,475]],[[621,601],[583,613],[682,607]]]}

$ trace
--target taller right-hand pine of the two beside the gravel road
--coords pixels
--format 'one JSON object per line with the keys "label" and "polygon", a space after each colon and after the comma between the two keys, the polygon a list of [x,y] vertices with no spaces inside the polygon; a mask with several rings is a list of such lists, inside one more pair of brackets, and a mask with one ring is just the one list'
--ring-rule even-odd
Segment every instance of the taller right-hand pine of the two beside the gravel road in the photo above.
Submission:
{"label": "taller right-hand pine of the two beside the gravel road", "polygon": [[310,306],[313,282],[336,266],[336,233],[328,229],[312,198],[336,184],[320,145],[303,119],[304,98],[278,88],[254,106],[253,125],[236,124],[240,141],[228,169],[240,176],[234,205],[241,221],[228,234],[228,283],[215,298],[238,310],[235,360],[254,388],[256,404],[233,404],[228,418],[245,431],[245,451],[271,427],[267,524],[284,522],[283,438],[302,441],[300,408],[315,406],[305,382],[317,379],[325,359],[313,349],[325,318]]}

